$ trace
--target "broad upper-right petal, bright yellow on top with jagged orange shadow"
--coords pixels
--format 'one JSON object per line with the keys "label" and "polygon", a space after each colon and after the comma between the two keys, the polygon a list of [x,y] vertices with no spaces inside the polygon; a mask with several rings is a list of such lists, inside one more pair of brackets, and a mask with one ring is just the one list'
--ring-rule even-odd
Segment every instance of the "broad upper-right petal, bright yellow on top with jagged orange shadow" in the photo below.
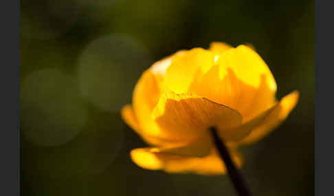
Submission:
{"label": "broad upper-right petal, bright yellow on top with jagged orange shadow", "polygon": [[239,46],[221,53],[214,66],[193,80],[189,93],[243,114],[248,121],[276,103],[276,82],[255,51]]}

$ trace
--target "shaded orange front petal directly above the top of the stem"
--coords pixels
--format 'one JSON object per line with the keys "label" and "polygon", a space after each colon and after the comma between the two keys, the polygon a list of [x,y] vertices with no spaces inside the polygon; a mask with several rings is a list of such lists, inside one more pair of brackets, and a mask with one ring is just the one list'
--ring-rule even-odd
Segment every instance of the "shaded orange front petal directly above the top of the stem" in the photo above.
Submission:
{"label": "shaded orange front petal directly above the top of the stem", "polygon": [[236,110],[191,94],[162,95],[152,115],[164,134],[185,140],[209,134],[211,126],[228,129],[241,125],[242,121]]}

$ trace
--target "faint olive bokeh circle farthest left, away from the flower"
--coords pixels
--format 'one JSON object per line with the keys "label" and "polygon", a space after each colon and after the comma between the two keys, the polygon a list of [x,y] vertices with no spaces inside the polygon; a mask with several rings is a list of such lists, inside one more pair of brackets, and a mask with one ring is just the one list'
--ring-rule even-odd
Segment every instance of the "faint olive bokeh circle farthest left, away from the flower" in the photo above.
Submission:
{"label": "faint olive bokeh circle farthest left, away from the flower", "polygon": [[63,145],[86,121],[76,79],[57,69],[35,71],[23,79],[21,130],[28,141],[39,146]]}

